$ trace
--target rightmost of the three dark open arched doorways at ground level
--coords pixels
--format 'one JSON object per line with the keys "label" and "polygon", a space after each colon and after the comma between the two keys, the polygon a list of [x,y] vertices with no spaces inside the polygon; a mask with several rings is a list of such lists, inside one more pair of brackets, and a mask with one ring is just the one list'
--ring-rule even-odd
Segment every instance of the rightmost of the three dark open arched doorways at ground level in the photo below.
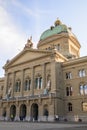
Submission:
{"label": "rightmost of the three dark open arched doorways at ground level", "polygon": [[38,120],[38,105],[36,103],[31,106],[31,118],[32,120]]}

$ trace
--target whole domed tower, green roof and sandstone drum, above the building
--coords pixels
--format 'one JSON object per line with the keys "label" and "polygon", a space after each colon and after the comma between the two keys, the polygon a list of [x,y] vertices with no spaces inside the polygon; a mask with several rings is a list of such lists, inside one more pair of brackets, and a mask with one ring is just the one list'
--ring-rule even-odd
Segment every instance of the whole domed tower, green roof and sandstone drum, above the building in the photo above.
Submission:
{"label": "whole domed tower, green roof and sandstone drum, above the building", "polygon": [[38,49],[56,49],[66,58],[78,58],[80,56],[80,43],[72,33],[72,29],[63,24],[59,19],[54,26],[44,31],[37,45]]}

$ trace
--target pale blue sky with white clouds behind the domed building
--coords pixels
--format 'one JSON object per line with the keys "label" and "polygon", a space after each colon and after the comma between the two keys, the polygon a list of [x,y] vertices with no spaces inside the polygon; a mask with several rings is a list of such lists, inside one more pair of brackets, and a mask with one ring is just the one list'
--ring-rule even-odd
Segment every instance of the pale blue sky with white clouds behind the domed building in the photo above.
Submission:
{"label": "pale blue sky with white clouds behind the domed building", "polygon": [[36,47],[43,31],[59,18],[87,55],[87,0],[0,0],[0,77],[8,59],[16,56],[32,36]]}

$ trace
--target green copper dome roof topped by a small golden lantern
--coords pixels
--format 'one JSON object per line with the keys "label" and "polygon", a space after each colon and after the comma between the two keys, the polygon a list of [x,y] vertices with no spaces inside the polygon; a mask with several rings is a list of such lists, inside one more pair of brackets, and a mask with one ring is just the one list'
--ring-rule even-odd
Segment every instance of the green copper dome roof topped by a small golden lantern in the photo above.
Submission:
{"label": "green copper dome roof topped by a small golden lantern", "polygon": [[40,40],[44,40],[47,37],[50,37],[52,35],[59,34],[62,32],[72,34],[71,30],[65,24],[62,24],[60,20],[57,19],[54,24],[55,26],[51,26],[50,29],[42,33],[42,35],[40,36]]}

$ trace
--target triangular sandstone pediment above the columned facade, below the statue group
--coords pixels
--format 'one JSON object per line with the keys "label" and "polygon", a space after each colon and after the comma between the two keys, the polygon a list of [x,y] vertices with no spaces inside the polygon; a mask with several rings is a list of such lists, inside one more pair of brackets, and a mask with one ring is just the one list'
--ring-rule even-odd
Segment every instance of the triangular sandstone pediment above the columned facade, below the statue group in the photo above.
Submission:
{"label": "triangular sandstone pediment above the columned facade, below the statue group", "polygon": [[21,53],[19,53],[17,56],[15,56],[4,67],[16,66],[18,64],[22,64],[28,61],[37,60],[39,58],[46,56],[47,54],[49,54],[49,52],[41,51],[38,49],[31,49],[31,50],[26,49],[26,50],[23,50]]}

